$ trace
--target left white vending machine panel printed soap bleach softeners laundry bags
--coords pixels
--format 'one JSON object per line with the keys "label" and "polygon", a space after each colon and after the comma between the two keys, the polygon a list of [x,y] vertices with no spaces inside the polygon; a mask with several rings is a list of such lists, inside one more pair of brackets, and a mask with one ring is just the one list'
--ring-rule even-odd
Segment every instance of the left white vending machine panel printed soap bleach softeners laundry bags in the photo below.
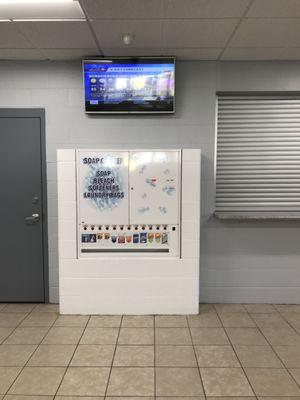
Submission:
{"label": "left white vending machine panel printed soap bleach softeners laundry bags", "polygon": [[77,151],[79,224],[128,224],[128,152]]}

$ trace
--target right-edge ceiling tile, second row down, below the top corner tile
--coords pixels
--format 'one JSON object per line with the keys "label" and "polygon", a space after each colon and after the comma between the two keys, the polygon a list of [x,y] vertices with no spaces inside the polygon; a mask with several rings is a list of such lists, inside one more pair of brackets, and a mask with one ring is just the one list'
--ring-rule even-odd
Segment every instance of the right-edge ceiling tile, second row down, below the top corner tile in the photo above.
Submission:
{"label": "right-edge ceiling tile, second row down, below the top corner tile", "polygon": [[236,30],[230,47],[298,47],[299,19],[246,19]]}

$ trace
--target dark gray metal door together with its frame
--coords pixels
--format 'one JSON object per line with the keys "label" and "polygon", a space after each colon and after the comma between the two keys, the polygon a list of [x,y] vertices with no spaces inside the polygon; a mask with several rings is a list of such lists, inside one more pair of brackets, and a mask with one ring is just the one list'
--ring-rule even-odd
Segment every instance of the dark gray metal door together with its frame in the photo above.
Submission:
{"label": "dark gray metal door together with its frame", "polygon": [[47,300],[43,124],[43,110],[0,110],[0,302]]}

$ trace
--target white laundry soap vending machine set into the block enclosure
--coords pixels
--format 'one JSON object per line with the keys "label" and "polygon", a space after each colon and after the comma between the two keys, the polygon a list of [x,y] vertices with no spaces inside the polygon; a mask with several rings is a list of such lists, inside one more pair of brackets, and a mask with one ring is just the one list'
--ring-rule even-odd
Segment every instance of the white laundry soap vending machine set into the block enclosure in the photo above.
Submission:
{"label": "white laundry soap vending machine set into the block enclosure", "polygon": [[77,151],[79,257],[180,255],[181,154]]}

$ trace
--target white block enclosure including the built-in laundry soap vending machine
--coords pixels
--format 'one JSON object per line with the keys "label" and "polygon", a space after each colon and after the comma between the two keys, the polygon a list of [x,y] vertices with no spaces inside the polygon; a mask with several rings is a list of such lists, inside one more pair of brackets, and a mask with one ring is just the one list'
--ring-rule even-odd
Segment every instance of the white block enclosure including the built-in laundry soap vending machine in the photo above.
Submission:
{"label": "white block enclosure including the built-in laundry soap vending machine", "polygon": [[59,150],[58,208],[62,313],[198,311],[199,150]]}

